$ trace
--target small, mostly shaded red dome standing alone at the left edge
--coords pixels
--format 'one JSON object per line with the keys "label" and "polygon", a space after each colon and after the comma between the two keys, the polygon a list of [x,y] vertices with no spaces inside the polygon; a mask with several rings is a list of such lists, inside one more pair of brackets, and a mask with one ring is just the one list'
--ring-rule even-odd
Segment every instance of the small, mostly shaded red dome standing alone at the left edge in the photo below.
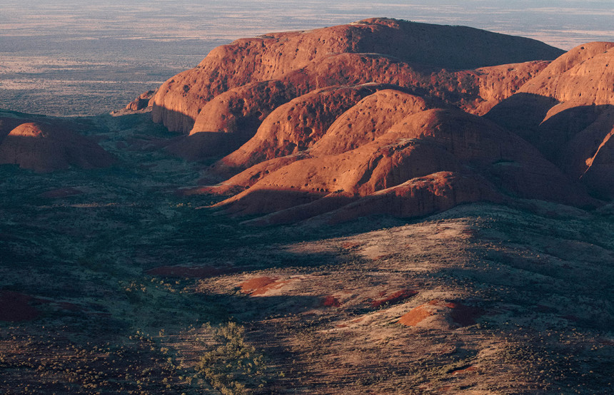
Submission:
{"label": "small, mostly shaded red dome standing alone at the left edge", "polygon": [[98,144],[53,123],[23,123],[0,144],[0,163],[39,173],[78,168],[102,168],[114,158]]}

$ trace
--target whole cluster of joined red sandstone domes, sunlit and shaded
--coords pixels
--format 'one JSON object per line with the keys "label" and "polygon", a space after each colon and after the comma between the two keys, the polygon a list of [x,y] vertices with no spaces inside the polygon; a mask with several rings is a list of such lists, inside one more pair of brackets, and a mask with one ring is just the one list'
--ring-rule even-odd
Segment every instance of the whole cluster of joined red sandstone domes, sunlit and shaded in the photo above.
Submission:
{"label": "whole cluster of joined red sandstone domes, sunlit and shaded", "polygon": [[[464,202],[614,197],[614,43],[564,53],[367,19],[221,46],[166,81],[169,150],[216,160],[217,207],[254,225],[417,217]],[[553,60],[554,59],[554,60]]]}

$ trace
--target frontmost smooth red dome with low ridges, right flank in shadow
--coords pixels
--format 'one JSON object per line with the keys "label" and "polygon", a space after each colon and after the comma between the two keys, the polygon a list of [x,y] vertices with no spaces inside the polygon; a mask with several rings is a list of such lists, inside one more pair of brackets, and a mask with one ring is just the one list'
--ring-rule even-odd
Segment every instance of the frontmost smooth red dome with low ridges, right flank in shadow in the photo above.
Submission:
{"label": "frontmost smooth red dome with low ridges, right flank in shadow", "polygon": [[[356,128],[356,133],[362,136],[364,130]],[[351,132],[346,138],[353,140]],[[524,140],[460,110],[420,111],[354,150],[310,154],[270,160],[269,173],[259,165],[231,178],[227,190],[233,180],[257,182],[238,185],[250,188],[218,206],[238,215],[268,215],[256,222],[269,224],[326,212],[328,222],[370,214],[421,216],[461,202],[502,201],[502,192],[589,202]]]}

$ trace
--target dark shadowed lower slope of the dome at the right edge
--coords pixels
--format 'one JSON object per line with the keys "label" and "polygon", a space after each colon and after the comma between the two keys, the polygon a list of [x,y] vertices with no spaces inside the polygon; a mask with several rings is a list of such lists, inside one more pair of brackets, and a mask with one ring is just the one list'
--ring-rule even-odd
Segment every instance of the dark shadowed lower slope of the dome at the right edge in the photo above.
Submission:
{"label": "dark shadowed lower slope of the dome at the right edge", "polygon": [[570,180],[588,187],[591,195],[602,200],[612,198],[608,146],[614,106],[573,106],[573,101],[558,103],[552,98],[517,93],[495,106],[485,118],[528,140]]}

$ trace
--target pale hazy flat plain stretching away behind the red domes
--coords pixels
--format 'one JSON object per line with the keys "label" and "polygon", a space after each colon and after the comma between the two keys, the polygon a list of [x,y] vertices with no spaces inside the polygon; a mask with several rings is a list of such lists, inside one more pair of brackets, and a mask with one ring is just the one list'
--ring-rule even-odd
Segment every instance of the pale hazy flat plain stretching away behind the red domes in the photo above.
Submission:
{"label": "pale hazy flat plain stretching away behind the red domes", "polygon": [[[525,36],[614,41],[611,0],[0,0],[0,108],[91,115],[196,66],[222,43],[386,16]],[[553,6],[557,4],[557,6]]]}

